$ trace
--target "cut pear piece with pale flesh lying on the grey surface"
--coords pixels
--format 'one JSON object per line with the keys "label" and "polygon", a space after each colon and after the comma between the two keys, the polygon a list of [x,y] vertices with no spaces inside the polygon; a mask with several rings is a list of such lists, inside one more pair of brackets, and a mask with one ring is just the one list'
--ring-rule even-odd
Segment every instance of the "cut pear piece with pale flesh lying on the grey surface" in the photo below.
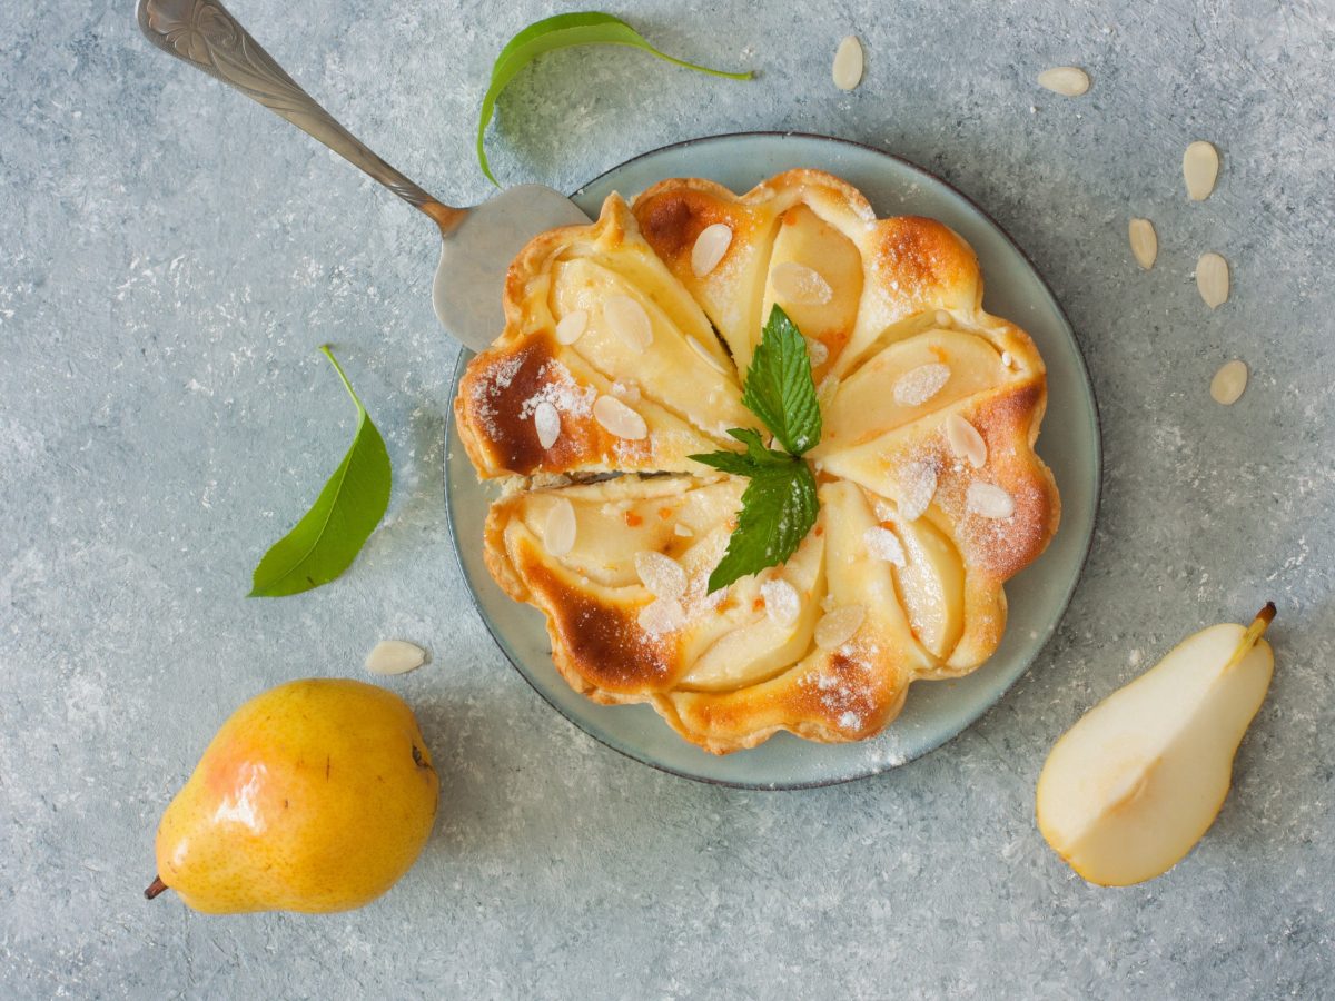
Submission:
{"label": "cut pear piece with pale flesh lying on the grey surface", "polygon": [[1179,862],[1214,822],[1275,667],[1250,629],[1211,626],[1091,709],[1039,775],[1039,830],[1080,876],[1129,886]]}

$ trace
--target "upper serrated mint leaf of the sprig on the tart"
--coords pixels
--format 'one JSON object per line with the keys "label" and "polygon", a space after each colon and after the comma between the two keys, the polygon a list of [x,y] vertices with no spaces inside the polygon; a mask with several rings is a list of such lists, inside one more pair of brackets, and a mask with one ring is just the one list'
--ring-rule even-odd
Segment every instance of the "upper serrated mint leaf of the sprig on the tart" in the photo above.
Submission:
{"label": "upper serrated mint leaf of the sprig on the tart", "polygon": [[821,404],[816,398],[806,338],[780,306],[770,310],[752,355],[742,403],[793,455],[801,455],[821,440]]}

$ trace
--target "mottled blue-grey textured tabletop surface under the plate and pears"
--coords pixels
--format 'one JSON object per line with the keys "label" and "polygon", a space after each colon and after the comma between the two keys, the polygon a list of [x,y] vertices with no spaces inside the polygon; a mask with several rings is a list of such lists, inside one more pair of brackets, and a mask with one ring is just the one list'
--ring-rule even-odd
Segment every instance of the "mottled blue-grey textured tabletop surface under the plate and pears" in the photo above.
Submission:
{"label": "mottled blue-grey textured tabletop surface under the plate and pears", "polygon": [[[483,196],[470,143],[490,59],[550,8],[302,7],[235,9],[390,161]],[[0,0],[0,994],[1328,996],[1335,13],[1121,8],[817,1],[761,19],[654,0],[629,13],[663,48],[761,79],[566,53],[502,103],[499,174],[563,188],[746,128],[908,156],[1011,230],[1087,351],[1104,509],[1029,675],[897,773],[753,794],[595,745],[471,611],[442,510],[453,348],[430,224],[151,51],[127,4]],[[841,95],[829,60],[849,31],[868,72]],[[1032,84],[1063,63],[1091,71],[1084,99]],[[1179,161],[1199,136],[1224,170],[1188,204]],[[1128,215],[1159,227],[1148,275]],[[1191,279],[1203,250],[1234,270],[1214,314]],[[323,340],[388,440],[390,517],[346,579],[246,601],[350,432]],[[1207,384],[1235,355],[1252,386],[1222,410]],[[1270,597],[1279,670],[1219,822],[1156,882],[1087,886],[1033,827],[1049,745],[1140,658]],[[413,873],[323,918],[146,904],[158,815],[224,715],[291,677],[356,675],[387,635],[435,651],[392,683],[445,774]]]}

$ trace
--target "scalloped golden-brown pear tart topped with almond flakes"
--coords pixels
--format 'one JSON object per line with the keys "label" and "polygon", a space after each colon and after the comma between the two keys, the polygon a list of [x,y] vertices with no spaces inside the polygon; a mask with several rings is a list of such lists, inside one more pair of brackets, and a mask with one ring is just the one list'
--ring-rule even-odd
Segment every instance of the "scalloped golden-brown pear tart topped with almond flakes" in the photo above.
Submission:
{"label": "scalloped golden-brown pear tart topped with almond flakes", "polygon": [[[502,486],[487,566],[546,614],[566,681],[722,754],[869,737],[910,682],[981,665],[1060,517],[1043,359],[981,303],[949,228],[877,220],[816,171],[742,196],[669,180],[534,239],[455,414]],[[820,514],[784,565],[709,593],[746,480],[689,456],[764,431],[741,392],[773,304],[817,380]]]}

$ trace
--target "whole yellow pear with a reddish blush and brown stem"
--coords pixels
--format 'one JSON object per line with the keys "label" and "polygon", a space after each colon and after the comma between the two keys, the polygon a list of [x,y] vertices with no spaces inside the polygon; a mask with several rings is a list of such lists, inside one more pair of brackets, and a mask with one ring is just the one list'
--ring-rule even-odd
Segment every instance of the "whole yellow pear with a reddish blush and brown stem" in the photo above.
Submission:
{"label": "whole yellow pear with a reddish blush and brown stem", "polygon": [[350,910],[417,861],[439,782],[413,710],[359,681],[238,709],[158,826],[158,878],[195,910]]}

